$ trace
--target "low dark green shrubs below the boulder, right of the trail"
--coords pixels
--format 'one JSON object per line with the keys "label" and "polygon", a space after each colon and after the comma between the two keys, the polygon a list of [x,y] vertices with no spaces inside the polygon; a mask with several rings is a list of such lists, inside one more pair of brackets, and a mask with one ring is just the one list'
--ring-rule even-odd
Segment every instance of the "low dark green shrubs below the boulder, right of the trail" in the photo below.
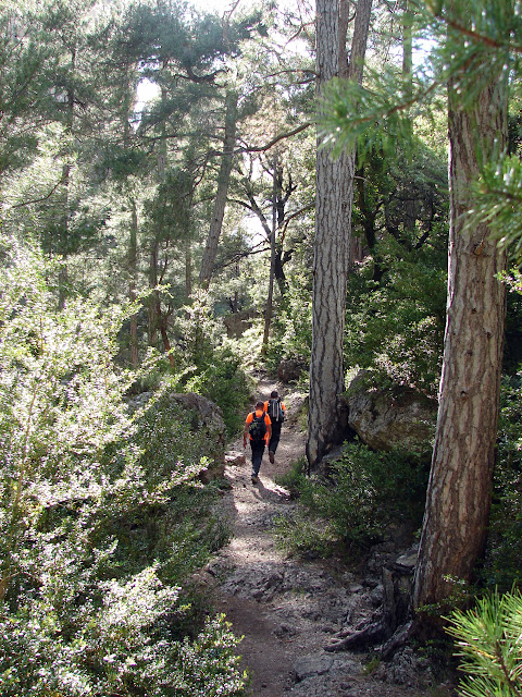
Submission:
{"label": "low dark green shrubs below the boulder, right of the trail", "polygon": [[430,449],[374,452],[346,443],[325,472],[308,476],[304,458],[277,479],[298,498],[298,512],[277,521],[279,545],[298,555],[357,552],[383,538],[394,521],[418,526],[430,470]]}

